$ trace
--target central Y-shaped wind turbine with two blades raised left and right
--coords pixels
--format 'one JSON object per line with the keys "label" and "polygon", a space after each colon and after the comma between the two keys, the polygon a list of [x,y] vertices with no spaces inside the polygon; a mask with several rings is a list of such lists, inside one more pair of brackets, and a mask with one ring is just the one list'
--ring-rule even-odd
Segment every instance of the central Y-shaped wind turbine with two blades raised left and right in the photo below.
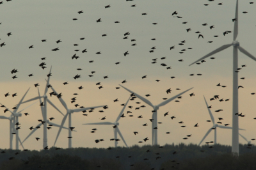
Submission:
{"label": "central Y-shaped wind turbine with two blades raised left and right", "polygon": [[180,95],[182,95],[183,93],[186,93],[187,91],[189,91],[190,89],[187,89],[186,91],[183,91],[182,93],[179,93],[179,95],[175,95],[172,98],[169,98],[167,100],[164,100],[164,102],[161,102],[158,105],[153,105],[149,100],[147,100],[144,97],[141,97],[140,95],[138,95],[137,93],[134,93],[133,91],[125,88],[124,86],[120,85],[122,88],[126,89],[127,91],[129,91],[130,93],[133,93],[136,97],[140,98],[140,100],[142,100],[143,102],[145,102],[146,104],[150,105],[151,107],[153,107],[154,111],[152,114],[152,145],[157,145],[157,129],[154,130],[154,127],[157,127],[157,110],[159,109],[159,107],[168,104],[169,102],[171,102],[172,100],[174,100],[175,98],[179,97]]}

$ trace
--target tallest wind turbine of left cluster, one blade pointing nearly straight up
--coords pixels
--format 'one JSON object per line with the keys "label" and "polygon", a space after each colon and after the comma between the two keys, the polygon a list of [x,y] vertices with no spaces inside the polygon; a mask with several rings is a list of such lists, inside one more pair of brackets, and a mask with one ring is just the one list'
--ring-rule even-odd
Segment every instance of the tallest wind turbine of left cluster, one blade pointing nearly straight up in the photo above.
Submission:
{"label": "tallest wind turbine of left cluster, one blade pointing nearly straight up", "polygon": [[[49,84],[50,77],[51,77],[51,70],[52,70],[52,67],[51,67],[49,75],[48,75],[48,79],[47,79],[47,83],[46,83],[46,86],[45,86],[44,95],[42,97],[39,95],[38,97],[34,97],[34,98],[29,99],[29,100],[26,100],[25,102],[22,102],[22,104],[24,104],[26,102],[31,102],[33,100],[38,100],[40,98],[44,98],[44,106],[41,106],[41,109],[43,108],[42,112],[43,112],[43,119],[44,119],[45,122],[47,122],[47,102],[50,105],[52,105],[52,107],[54,107],[58,112],[60,112],[64,116],[64,114],[54,104],[52,104],[52,102],[47,98],[47,95],[46,95],[46,93],[48,91],[48,88],[51,86]],[[48,144],[47,144],[47,123],[44,124],[44,140],[43,140],[43,142],[44,142],[43,143],[43,148],[48,146]]]}

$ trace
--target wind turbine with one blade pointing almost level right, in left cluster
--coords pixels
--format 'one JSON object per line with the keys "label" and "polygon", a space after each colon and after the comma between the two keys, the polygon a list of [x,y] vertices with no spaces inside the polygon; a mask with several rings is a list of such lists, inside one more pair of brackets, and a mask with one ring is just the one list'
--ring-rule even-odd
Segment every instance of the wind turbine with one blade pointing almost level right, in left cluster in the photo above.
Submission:
{"label": "wind turbine with one blade pointing almost level right, in left cluster", "polygon": [[[59,94],[55,91],[55,89],[52,88],[52,86],[51,86],[51,89],[52,89],[52,91],[54,91],[54,93],[56,93],[56,95],[59,95]],[[73,112],[81,112],[81,111],[85,111],[85,110],[87,110],[87,109],[98,108],[98,107],[104,107],[104,105],[99,105],[99,106],[84,107],[84,108],[79,108],[79,109],[68,109],[67,104],[64,102],[64,100],[63,100],[61,97],[58,98],[58,99],[60,100],[60,102],[61,102],[61,104],[63,105],[63,107],[65,107],[67,113],[66,113],[66,115],[63,117],[63,119],[62,119],[62,121],[61,121],[61,125],[60,125],[59,131],[58,131],[58,134],[57,134],[57,136],[56,136],[56,140],[55,140],[53,146],[55,146],[55,144],[56,144],[56,142],[57,142],[57,140],[58,140],[58,137],[59,137],[59,135],[60,135],[61,129],[63,128],[63,125],[64,125],[65,121],[67,120],[67,116],[68,116],[68,127],[70,128],[70,127],[72,127],[72,125],[71,125],[71,114],[72,114]],[[72,148],[72,140],[71,140],[71,139],[72,139],[72,133],[71,133],[71,132],[72,132],[71,129],[69,129],[69,130],[68,130],[68,148]]]}

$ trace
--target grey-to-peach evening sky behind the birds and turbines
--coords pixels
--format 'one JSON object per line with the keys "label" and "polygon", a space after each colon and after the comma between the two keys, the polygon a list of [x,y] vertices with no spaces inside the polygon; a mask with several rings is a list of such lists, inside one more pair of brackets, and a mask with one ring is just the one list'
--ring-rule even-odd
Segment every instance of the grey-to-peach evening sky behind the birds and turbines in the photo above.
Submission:
{"label": "grey-to-peach evening sky behind the birds and turbines", "polygon": [[[251,1],[239,1],[239,34],[237,40],[241,47],[248,50],[250,54],[256,56],[255,42],[253,37],[256,34],[256,4]],[[253,0],[252,0],[253,2]],[[223,3],[219,5],[218,3]],[[105,8],[110,4],[110,8]],[[132,5],[136,6],[132,7]],[[204,4],[209,4],[205,6]],[[115,121],[122,110],[122,105],[129,98],[129,93],[123,88],[116,89],[118,84],[131,89],[135,93],[145,97],[152,104],[163,102],[163,98],[173,97],[186,89],[190,91],[182,95],[180,102],[174,100],[158,111],[158,142],[164,144],[179,143],[200,143],[202,137],[209,128],[212,127],[207,107],[205,106],[204,96],[209,105],[212,105],[212,114],[217,120],[223,118],[222,125],[228,123],[232,127],[232,47],[215,54],[215,59],[207,58],[205,63],[192,65],[191,63],[205,54],[208,54],[221,45],[232,43],[236,1],[3,1],[0,4],[0,43],[5,43],[0,48],[0,102],[8,108],[14,107],[19,103],[20,98],[29,89],[24,100],[38,96],[37,88],[34,84],[38,83],[40,94],[44,93],[45,80],[52,66],[52,76],[50,84],[62,94],[63,100],[68,108],[75,109],[74,104],[84,107],[97,105],[108,105],[109,109],[95,109],[93,112],[75,112],[72,114],[72,127],[77,132],[72,132],[72,147],[89,148],[108,148],[113,147],[114,142],[109,139],[114,137],[113,127],[109,125],[83,125],[83,123],[93,123],[101,121]],[[77,12],[83,11],[79,14]],[[177,15],[172,15],[177,11]],[[248,12],[248,13],[243,13]],[[141,15],[147,13],[147,15]],[[182,17],[182,18],[178,18]],[[77,20],[73,20],[77,19]],[[101,22],[96,20],[101,19]],[[119,21],[120,23],[115,23]],[[182,22],[187,22],[182,24]],[[157,24],[152,24],[157,23]],[[207,23],[207,26],[202,24]],[[210,29],[210,26],[214,28]],[[187,32],[186,29],[191,28]],[[198,38],[196,31],[204,38]],[[223,32],[232,31],[223,36]],[[7,33],[12,32],[8,36]],[[124,34],[129,32],[127,39]],[[102,36],[106,34],[106,36]],[[214,37],[218,35],[218,37]],[[84,40],[80,40],[84,38]],[[156,40],[151,40],[156,38]],[[42,40],[46,39],[46,42]],[[132,39],[136,41],[131,42]],[[56,41],[61,40],[60,43]],[[179,45],[183,40],[184,45]],[[212,43],[209,43],[212,41]],[[132,46],[132,44],[136,45]],[[74,46],[74,44],[78,44]],[[29,49],[29,46],[33,48]],[[170,47],[175,46],[170,50]],[[60,50],[52,51],[59,48]],[[154,52],[150,52],[152,47],[156,47]],[[192,49],[188,49],[192,48]],[[86,49],[87,52],[82,52]],[[180,54],[182,49],[186,49]],[[75,51],[79,50],[79,51]],[[124,56],[128,51],[129,54]],[[100,52],[101,54],[96,54]],[[76,54],[78,59],[72,59]],[[239,112],[246,116],[239,118],[239,128],[246,129],[241,131],[250,141],[255,137],[253,129],[256,128],[253,118],[256,117],[255,97],[255,72],[256,63],[252,59],[238,52],[239,78]],[[46,58],[42,60],[41,58]],[[161,59],[164,58],[164,59]],[[156,63],[152,63],[156,59]],[[183,61],[179,61],[182,59]],[[89,61],[92,61],[90,63]],[[46,68],[43,70],[40,63],[45,62]],[[115,63],[120,62],[116,65]],[[161,66],[161,64],[166,66]],[[166,69],[167,67],[171,69]],[[81,68],[82,70],[77,70]],[[11,73],[17,69],[17,73]],[[94,71],[95,73],[92,73]],[[28,75],[33,73],[32,77]],[[81,78],[74,79],[75,75]],[[190,74],[194,74],[191,76]],[[202,75],[197,75],[202,74]],[[17,75],[17,79],[12,79]],[[90,77],[89,75],[93,75]],[[103,77],[108,75],[108,79]],[[147,78],[142,79],[144,75]],[[170,77],[175,77],[171,79]],[[156,80],[160,80],[157,82]],[[126,80],[127,82],[122,83]],[[63,85],[63,82],[68,82]],[[103,86],[99,89],[97,82]],[[225,88],[216,86],[217,84],[227,86]],[[78,89],[83,86],[83,89]],[[171,88],[172,93],[167,94],[166,89]],[[180,90],[177,90],[179,88]],[[50,97],[51,89],[47,91],[48,98],[66,114],[65,108],[61,105],[57,97]],[[4,97],[4,94],[17,93],[16,97]],[[78,93],[79,95],[73,95]],[[195,96],[190,97],[189,94]],[[227,102],[218,100],[210,101],[214,95],[220,95],[220,99],[229,99]],[[76,97],[76,103],[71,103],[70,99]],[[113,102],[118,98],[118,102]],[[140,104],[136,104],[140,102]],[[33,102],[20,105],[20,109],[27,107]],[[19,130],[20,139],[26,138],[30,133],[29,127],[38,125],[38,120],[42,119],[40,102],[22,111],[19,118],[21,129]],[[152,108],[143,103],[139,98],[129,101],[127,105],[132,105],[132,109],[125,108],[125,118],[121,118],[119,129],[124,136],[128,146],[138,144],[151,144],[151,124]],[[145,105],[146,107],[135,110],[135,107]],[[20,111],[19,109],[19,111]],[[214,112],[223,109],[221,112]],[[99,112],[103,110],[104,112]],[[4,108],[0,107],[1,116],[10,116],[10,112],[4,113]],[[127,111],[132,113],[127,114]],[[29,115],[25,116],[24,112]],[[164,113],[168,115],[164,117]],[[129,115],[133,115],[130,117]],[[143,118],[138,118],[142,115]],[[100,120],[106,116],[106,120]],[[171,119],[175,116],[176,119]],[[47,118],[54,117],[53,123],[60,125],[63,116],[51,105],[47,105]],[[9,148],[9,121],[1,121],[1,146]],[[183,124],[178,123],[183,121]],[[147,127],[142,125],[147,123]],[[194,127],[198,123],[199,127]],[[186,128],[180,127],[186,125]],[[68,120],[65,123],[68,127]],[[97,131],[92,134],[92,128]],[[139,134],[134,135],[137,131]],[[170,134],[166,134],[170,132]],[[51,147],[56,139],[58,128],[53,127],[48,130],[48,145]],[[183,137],[192,134],[189,139]],[[61,148],[68,147],[68,131],[61,130],[60,137],[56,146]],[[35,137],[40,137],[41,141],[36,141]],[[145,137],[150,139],[145,143],[138,143]],[[120,137],[118,137],[120,138]],[[218,129],[217,142],[220,144],[231,144],[232,130]],[[95,139],[104,139],[103,142],[95,143]],[[43,141],[43,129],[39,128],[24,142],[24,148],[29,150],[41,150]],[[214,141],[214,132],[208,135],[204,143]],[[239,138],[239,143],[247,143]],[[253,143],[253,141],[252,141]],[[15,140],[13,139],[13,147]],[[125,146],[122,141],[118,146]]]}

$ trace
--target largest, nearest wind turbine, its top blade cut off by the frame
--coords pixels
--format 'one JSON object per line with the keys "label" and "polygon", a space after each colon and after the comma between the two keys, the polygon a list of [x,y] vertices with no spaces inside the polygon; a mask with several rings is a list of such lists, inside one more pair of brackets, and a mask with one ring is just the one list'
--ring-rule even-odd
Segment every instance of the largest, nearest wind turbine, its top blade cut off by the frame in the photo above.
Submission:
{"label": "largest, nearest wind turbine, its top blade cut off by the frame", "polygon": [[[238,132],[238,116],[235,114],[238,112],[238,56],[237,56],[237,49],[239,49],[243,54],[248,56],[249,58],[256,61],[256,58],[252,56],[249,52],[247,52],[243,47],[239,45],[239,42],[236,41],[237,35],[238,35],[238,0],[236,1],[236,20],[234,20],[234,37],[233,42],[230,44],[222,45],[216,50],[213,50],[209,54],[205,55],[204,57],[196,60],[191,65],[197,63],[198,61],[201,61],[202,59],[208,58],[209,56],[212,56],[213,54],[216,54],[217,52],[220,52],[221,50],[225,50],[231,45],[233,46],[233,106],[232,106],[232,153],[234,155],[239,155],[239,132]],[[191,66],[189,65],[189,66]]]}

